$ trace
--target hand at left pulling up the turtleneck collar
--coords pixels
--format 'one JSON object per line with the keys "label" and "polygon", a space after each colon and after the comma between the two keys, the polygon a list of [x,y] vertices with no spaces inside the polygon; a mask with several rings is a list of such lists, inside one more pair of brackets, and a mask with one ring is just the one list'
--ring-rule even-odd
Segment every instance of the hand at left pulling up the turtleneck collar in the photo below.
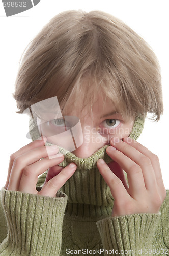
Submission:
{"label": "hand at left pulling up the turtleneck collar", "polygon": [[[57,146],[45,146],[45,143],[46,138],[40,138],[11,155],[5,189],[55,197],[57,191],[73,175],[77,166],[74,163],[70,163],[65,168],[58,166],[64,160],[64,155],[57,154],[59,152]],[[36,190],[38,175],[47,169],[49,170],[45,184],[38,192]]]}

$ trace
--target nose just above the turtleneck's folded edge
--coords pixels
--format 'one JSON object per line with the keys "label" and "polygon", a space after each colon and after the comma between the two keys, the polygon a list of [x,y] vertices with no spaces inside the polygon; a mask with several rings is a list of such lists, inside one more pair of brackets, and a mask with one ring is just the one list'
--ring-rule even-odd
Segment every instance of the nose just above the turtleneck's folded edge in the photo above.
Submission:
{"label": "nose just above the turtleneck's folded edge", "polygon": [[93,155],[99,148],[108,144],[108,141],[105,137],[101,136],[96,129],[91,127],[85,127],[83,131],[83,143],[81,146],[72,151],[72,153],[80,158],[86,158]]}

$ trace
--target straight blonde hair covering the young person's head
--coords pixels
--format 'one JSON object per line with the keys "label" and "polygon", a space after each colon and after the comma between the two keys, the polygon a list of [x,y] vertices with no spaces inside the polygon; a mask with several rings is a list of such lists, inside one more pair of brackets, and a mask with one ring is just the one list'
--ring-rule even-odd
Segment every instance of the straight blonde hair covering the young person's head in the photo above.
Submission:
{"label": "straight blonde hair covering the young person's head", "polygon": [[16,79],[18,113],[57,96],[61,109],[112,100],[125,116],[163,112],[158,60],[125,23],[101,11],[66,11],[50,20],[26,50]]}

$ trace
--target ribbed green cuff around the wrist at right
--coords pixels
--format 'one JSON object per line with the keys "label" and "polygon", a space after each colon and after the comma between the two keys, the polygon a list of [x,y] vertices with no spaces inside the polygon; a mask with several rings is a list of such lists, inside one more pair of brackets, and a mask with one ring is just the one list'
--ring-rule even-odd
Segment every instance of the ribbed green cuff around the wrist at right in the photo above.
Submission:
{"label": "ribbed green cuff around the wrist at right", "polygon": [[[160,215],[160,212],[158,214],[133,214],[98,221],[97,227],[104,249],[117,250],[120,255],[135,256],[138,250],[144,251],[144,248],[151,248]],[[121,251],[126,251],[126,253],[121,253]]]}

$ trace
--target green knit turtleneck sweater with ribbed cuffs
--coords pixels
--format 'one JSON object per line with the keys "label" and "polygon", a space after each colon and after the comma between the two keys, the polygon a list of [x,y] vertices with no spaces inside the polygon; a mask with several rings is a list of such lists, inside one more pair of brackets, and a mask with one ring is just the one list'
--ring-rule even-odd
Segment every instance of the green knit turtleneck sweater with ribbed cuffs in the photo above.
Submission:
{"label": "green knit turtleneck sweater with ribbed cuffs", "polygon": [[[137,139],[143,124],[137,118],[130,137]],[[106,147],[89,158],[61,148],[61,165],[75,162],[77,170],[55,198],[2,188],[1,255],[169,255],[169,191],[158,214],[111,217],[114,199],[96,166],[100,158],[112,161]]]}

